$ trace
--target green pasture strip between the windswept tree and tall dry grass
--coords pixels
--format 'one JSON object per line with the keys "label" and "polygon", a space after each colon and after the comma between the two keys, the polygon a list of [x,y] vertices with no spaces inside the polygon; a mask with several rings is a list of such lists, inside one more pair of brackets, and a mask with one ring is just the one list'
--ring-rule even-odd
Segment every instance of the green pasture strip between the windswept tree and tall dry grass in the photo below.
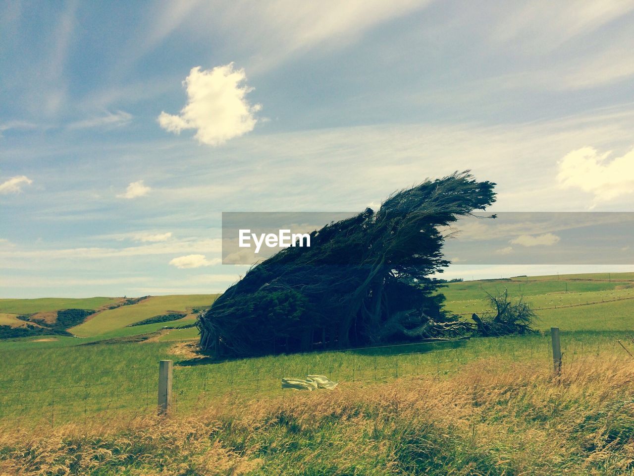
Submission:
{"label": "green pasture strip between the windswept tree and tall dry grass", "polygon": [[[189,330],[189,329],[188,329]],[[628,331],[562,332],[564,364],[585,355],[623,352],[616,338]],[[249,400],[292,395],[282,377],[325,374],[344,384],[375,385],[394,378],[451,374],[476,359],[509,364],[534,360],[550,366],[548,334],[482,338],[311,354],[278,355],[226,362],[197,362],[172,354],[173,342],[117,343],[2,349],[0,425],[56,425],[96,414],[134,415],[155,411],[158,361],[175,360],[177,411],[210,399]],[[631,346],[628,346],[631,347]],[[630,348],[630,351],[633,349]]]}

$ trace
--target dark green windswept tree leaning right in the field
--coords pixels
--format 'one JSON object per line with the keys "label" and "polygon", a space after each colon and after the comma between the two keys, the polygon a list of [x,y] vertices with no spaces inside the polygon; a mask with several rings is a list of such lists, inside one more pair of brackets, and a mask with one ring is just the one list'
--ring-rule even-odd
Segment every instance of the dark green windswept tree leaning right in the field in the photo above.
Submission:
{"label": "dark green windswept tree leaning right in the field", "polygon": [[217,355],[346,348],[455,336],[430,276],[449,261],[443,227],[486,209],[494,183],[468,173],[427,180],[311,233],[252,268],[198,320],[201,347]]}

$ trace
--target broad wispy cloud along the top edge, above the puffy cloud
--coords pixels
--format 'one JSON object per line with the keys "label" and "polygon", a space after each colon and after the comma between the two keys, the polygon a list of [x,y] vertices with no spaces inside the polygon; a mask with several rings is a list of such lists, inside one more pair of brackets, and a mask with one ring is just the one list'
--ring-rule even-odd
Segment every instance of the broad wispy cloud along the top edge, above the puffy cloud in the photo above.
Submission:
{"label": "broad wispy cloud along the top edge, above the puffy cloud", "polygon": [[165,37],[186,32],[202,43],[221,35],[231,50],[256,69],[272,69],[294,53],[323,46],[345,48],[394,18],[422,10],[431,0],[321,0],[297,2],[173,1],[157,5],[148,29],[124,51],[123,67],[157,48]]}

